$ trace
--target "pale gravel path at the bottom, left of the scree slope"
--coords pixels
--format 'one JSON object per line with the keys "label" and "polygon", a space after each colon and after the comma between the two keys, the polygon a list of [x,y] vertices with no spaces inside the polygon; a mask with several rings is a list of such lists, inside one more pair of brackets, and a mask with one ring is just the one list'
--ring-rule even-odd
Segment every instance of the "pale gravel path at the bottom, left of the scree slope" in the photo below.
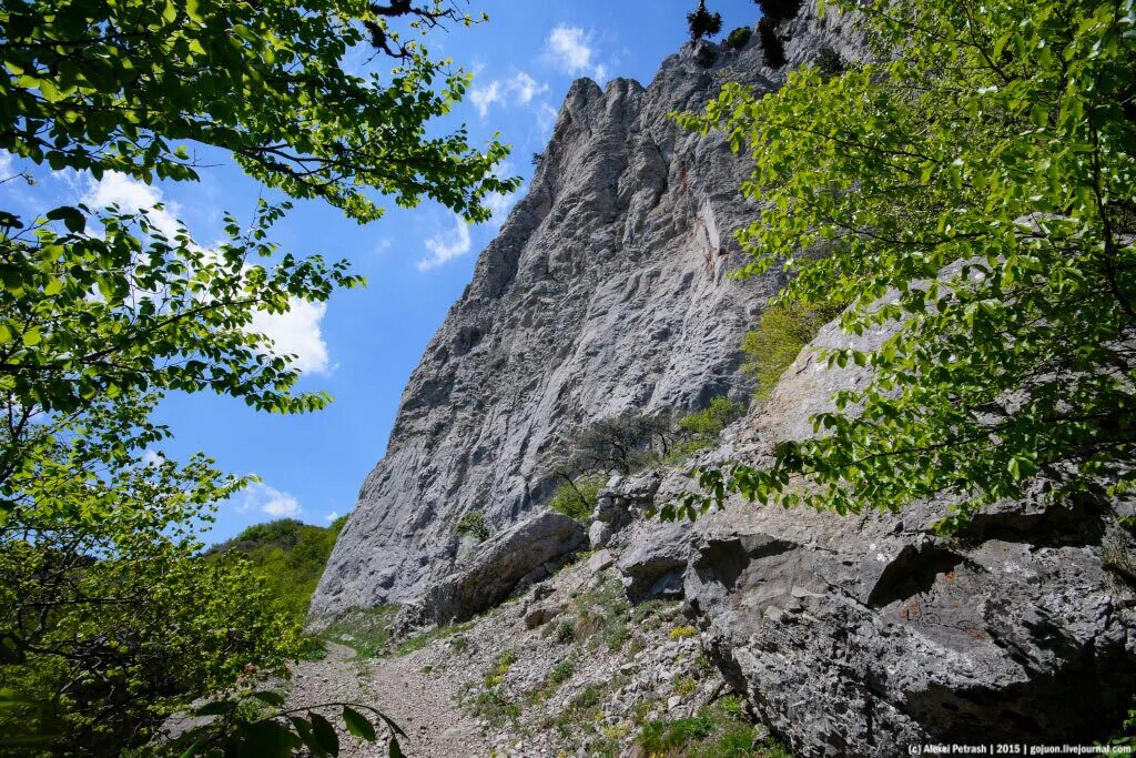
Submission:
{"label": "pale gravel path at the bottom, left of the scree slope", "polygon": [[[488,747],[477,722],[463,714],[456,686],[421,672],[419,655],[356,660],[354,651],[327,645],[324,660],[303,661],[292,675],[289,707],[327,701],[353,701],[378,708],[402,727],[399,740],[409,758],[476,758]],[[331,714],[326,714],[331,716]],[[332,723],[341,720],[333,718]],[[379,730],[382,731],[382,730]],[[340,734],[341,756],[385,758],[386,744],[368,744]]]}

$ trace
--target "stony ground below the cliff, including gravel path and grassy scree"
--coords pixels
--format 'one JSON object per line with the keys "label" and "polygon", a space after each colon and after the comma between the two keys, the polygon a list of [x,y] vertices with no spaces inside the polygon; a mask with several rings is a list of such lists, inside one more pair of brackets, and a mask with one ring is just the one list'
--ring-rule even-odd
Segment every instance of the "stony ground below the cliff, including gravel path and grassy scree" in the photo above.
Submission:
{"label": "stony ground below the cliff, including gravel path and grassy scree", "polygon": [[[609,561],[582,560],[473,623],[386,643],[375,657],[345,647],[374,655],[366,633],[341,630],[324,660],[298,666],[290,706],[381,708],[407,732],[411,758],[645,756],[644,727],[709,724],[692,717],[728,688],[678,603],[632,607]],[[763,731],[738,725],[757,740],[738,755],[767,755]],[[386,755],[384,744],[342,742],[345,756]]]}

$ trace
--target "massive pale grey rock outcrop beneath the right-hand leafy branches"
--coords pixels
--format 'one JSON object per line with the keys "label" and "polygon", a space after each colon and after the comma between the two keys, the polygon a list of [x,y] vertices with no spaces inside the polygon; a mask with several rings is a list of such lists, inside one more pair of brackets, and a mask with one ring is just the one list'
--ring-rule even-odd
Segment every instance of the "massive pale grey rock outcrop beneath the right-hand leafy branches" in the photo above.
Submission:
{"label": "massive pale grey rock outcrop beneath the right-hand leafy branches", "polygon": [[[827,368],[817,350],[882,338],[826,326],[704,463],[760,465],[776,442],[811,434],[809,416],[830,409],[834,391],[869,380]],[[657,502],[687,486],[670,472]],[[1116,518],[1125,506],[1005,502],[944,541],[930,527],[946,507],[841,517],[734,501],[687,525],[683,594],[703,642],[803,755],[1091,743],[1119,724],[1136,675],[1136,592],[1109,568],[1136,557]],[[676,527],[636,523],[611,539],[625,545],[626,584],[666,528]]]}

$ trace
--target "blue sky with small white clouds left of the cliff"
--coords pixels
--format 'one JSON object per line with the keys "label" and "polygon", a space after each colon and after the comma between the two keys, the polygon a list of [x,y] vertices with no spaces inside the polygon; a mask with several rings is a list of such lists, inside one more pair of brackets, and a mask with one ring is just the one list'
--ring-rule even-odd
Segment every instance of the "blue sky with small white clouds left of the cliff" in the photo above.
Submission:
{"label": "blue sky with small white clouds left of the cliff", "polygon": [[[433,35],[427,47],[475,74],[454,123],[468,125],[475,144],[500,132],[502,141],[512,145],[509,175],[520,175],[527,184],[531,157],[544,149],[573,80],[590,76],[602,85],[623,76],[648,84],[662,59],[685,41],[685,14],[695,5],[694,0],[473,0],[470,10],[487,11],[490,22]],[[708,5],[722,14],[725,32],[752,25],[759,15],[751,0]],[[376,64],[389,68],[385,60]],[[22,213],[42,211],[51,207],[48,202],[117,201],[137,207],[161,200],[198,240],[208,242],[219,239],[225,211],[248,219],[256,199],[273,194],[223,155],[199,151],[199,157],[217,165],[204,169],[202,181],[194,184],[147,186],[114,176],[95,183],[36,169],[35,186],[9,182],[0,188],[0,200]],[[10,160],[0,157],[0,163]],[[328,409],[306,416],[257,414],[243,402],[211,394],[172,395],[160,407],[159,420],[175,433],[161,445],[164,453],[184,459],[203,450],[225,470],[262,478],[223,503],[207,541],[227,539],[272,518],[326,524],[351,510],[364,476],[386,448],[410,372],[515,200],[498,198],[500,213],[494,220],[473,227],[429,202],[414,210],[384,203],[386,216],[366,226],[315,201],[295,203],[275,230],[282,248],[348,258],[369,284],[336,293],[326,308],[303,305],[286,318],[262,325],[284,351],[299,353],[304,369],[300,389],[324,390],[335,398]]]}

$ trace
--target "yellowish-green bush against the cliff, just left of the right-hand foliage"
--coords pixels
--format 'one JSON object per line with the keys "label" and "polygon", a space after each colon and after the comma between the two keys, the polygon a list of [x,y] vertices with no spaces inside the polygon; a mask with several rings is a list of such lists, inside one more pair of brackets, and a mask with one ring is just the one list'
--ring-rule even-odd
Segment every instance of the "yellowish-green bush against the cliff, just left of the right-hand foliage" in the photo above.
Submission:
{"label": "yellowish-green bush against the cliff, just left of the right-hand foliage", "polygon": [[777,380],[796,359],[820,327],[836,318],[840,306],[805,308],[784,305],[761,314],[758,326],[745,334],[742,350],[749,357],[744,368],[758,381],[758,400],[768,400]]}

